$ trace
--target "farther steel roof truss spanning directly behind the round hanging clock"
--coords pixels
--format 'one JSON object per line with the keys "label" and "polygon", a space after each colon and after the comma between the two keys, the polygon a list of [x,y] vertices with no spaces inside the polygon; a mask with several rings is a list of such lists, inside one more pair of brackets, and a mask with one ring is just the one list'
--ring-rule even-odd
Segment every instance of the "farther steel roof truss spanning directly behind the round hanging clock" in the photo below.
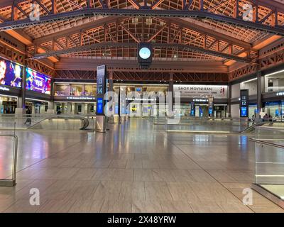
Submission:
{"label": "farther steel roof truss spanning directly behind the round hanging clock", "polygon": [[[111,22],[112,21],[112,22]],[[134,21],[134,23],[133,23]],[[148,21],[149,22],[149,21]],[[256,51],[251,44],[187,23],[180,19],[107,17],[77,28],[35,38],[33,59],[60,57],[136,57],[137,43],[152,42],[154,58],[236,60],[251,62]],[[45,53],[36,53],[40,47]],[[246,57],[239,57],[246,52]]]}

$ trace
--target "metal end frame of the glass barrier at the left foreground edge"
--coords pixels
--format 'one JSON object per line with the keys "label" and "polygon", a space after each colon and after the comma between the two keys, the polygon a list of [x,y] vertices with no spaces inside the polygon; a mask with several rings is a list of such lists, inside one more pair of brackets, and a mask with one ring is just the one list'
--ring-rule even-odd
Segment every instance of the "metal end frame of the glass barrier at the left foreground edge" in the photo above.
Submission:
{"label": "metal end frame of the glass barrier at the left foreground edge", "polygon": [[[0,135],[0,137],[13,138],[13,163],[11,179],[0,179],[0,187],[13,187],[16,185],[17,157],[18,157],[18,136],[17,135]],[[7,178],[7,177],[6,177]]]}

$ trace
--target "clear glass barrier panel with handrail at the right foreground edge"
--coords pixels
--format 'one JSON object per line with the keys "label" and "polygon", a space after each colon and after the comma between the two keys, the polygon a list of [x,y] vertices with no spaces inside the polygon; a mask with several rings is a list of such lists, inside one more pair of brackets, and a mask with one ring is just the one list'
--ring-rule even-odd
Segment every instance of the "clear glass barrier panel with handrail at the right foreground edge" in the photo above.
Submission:
{"label": "clear glass barrier panel with handrail at the right foreground edge", "polygon": [[284,128],[256,127],[255,184],[284,199]]}

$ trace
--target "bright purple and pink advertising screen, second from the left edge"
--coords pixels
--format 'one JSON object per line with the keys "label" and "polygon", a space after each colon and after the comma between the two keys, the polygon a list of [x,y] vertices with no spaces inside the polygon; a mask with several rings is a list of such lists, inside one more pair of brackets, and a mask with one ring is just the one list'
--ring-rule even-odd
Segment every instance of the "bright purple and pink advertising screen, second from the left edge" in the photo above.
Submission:
{"label": "bright purple and pink advertising screen, second from the left edge", "polygon": [[26,89],[33,92],[50,94],[51,79],[45,74],[26,69]]}

